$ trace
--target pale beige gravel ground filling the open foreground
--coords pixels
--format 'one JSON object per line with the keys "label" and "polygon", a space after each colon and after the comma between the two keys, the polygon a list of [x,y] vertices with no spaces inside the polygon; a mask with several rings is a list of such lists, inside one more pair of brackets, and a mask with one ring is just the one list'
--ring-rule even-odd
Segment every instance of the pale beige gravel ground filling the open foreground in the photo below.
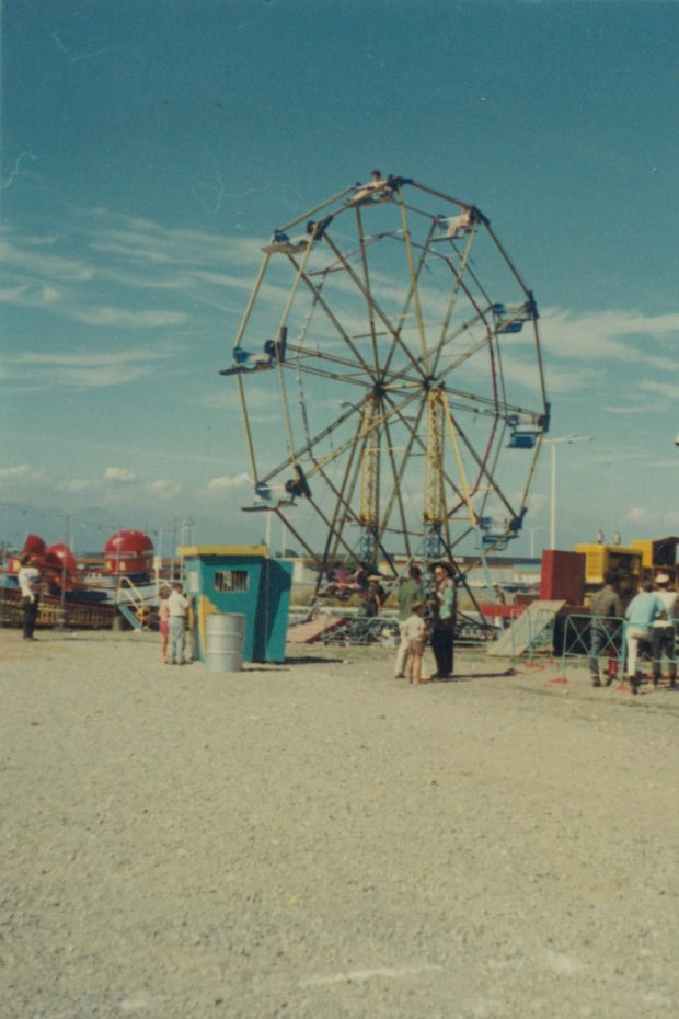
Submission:
{"label": "pale beige gravel ground filling the open foreground", "polygon": [[679,695],[39,638],[0,632],[2,1019],[679,1016]]}

